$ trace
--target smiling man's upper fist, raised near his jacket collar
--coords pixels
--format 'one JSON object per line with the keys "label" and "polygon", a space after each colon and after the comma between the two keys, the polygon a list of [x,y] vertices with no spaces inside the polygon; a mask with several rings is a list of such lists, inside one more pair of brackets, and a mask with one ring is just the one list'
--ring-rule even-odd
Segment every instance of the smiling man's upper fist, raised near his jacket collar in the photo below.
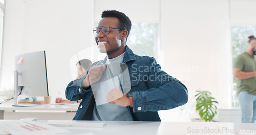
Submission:
{"label": "smiling man's upper fist, raised near his jacket collar", "polygon": [[105,64],[92,66],[88,72],[87,77],[82,81],[82,87],[84,89],[87,89],[90,85],[97,82],[100,79],[105,68]]}

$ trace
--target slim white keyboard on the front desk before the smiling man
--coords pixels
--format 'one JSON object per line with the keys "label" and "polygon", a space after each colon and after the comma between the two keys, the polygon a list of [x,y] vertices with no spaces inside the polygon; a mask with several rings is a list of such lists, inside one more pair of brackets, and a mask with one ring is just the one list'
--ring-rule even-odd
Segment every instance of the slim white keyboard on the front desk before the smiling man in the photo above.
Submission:
{"label": "slim white keyboard on the front desk before the smiling man", "polygon": [[99,121],[47,121],[46,124],[57,127],[103,127],[106,123]]}

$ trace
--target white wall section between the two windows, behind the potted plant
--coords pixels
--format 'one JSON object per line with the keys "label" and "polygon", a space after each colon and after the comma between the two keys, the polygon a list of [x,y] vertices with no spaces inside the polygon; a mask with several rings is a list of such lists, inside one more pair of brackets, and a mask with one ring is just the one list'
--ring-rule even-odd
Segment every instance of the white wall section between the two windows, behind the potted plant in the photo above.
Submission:
{"label": "white wall section between the two windows, behind the potted plant", "polygon": [[[196,90],[209,91],[221,108],[231,105],[228,7],[227,0],[161,1],[163,69],[186,85],[189,99]],[[179,114],[177,111],[161,114]]]}

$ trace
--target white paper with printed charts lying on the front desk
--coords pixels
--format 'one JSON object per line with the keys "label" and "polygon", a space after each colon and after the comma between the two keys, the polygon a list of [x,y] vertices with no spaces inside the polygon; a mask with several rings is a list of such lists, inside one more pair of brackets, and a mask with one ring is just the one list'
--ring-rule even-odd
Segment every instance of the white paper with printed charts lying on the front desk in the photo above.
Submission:
{"label": "white paper with printed charts lying on the front desk", "polygon": [[10,120],[1,121],[0,129],[4,130],[12,135],[26,134],[26,135],[39,135],[39,134],[58,134],[68,132],[59,127],[54,127],[45,123],[35,121],[20,121]]}

